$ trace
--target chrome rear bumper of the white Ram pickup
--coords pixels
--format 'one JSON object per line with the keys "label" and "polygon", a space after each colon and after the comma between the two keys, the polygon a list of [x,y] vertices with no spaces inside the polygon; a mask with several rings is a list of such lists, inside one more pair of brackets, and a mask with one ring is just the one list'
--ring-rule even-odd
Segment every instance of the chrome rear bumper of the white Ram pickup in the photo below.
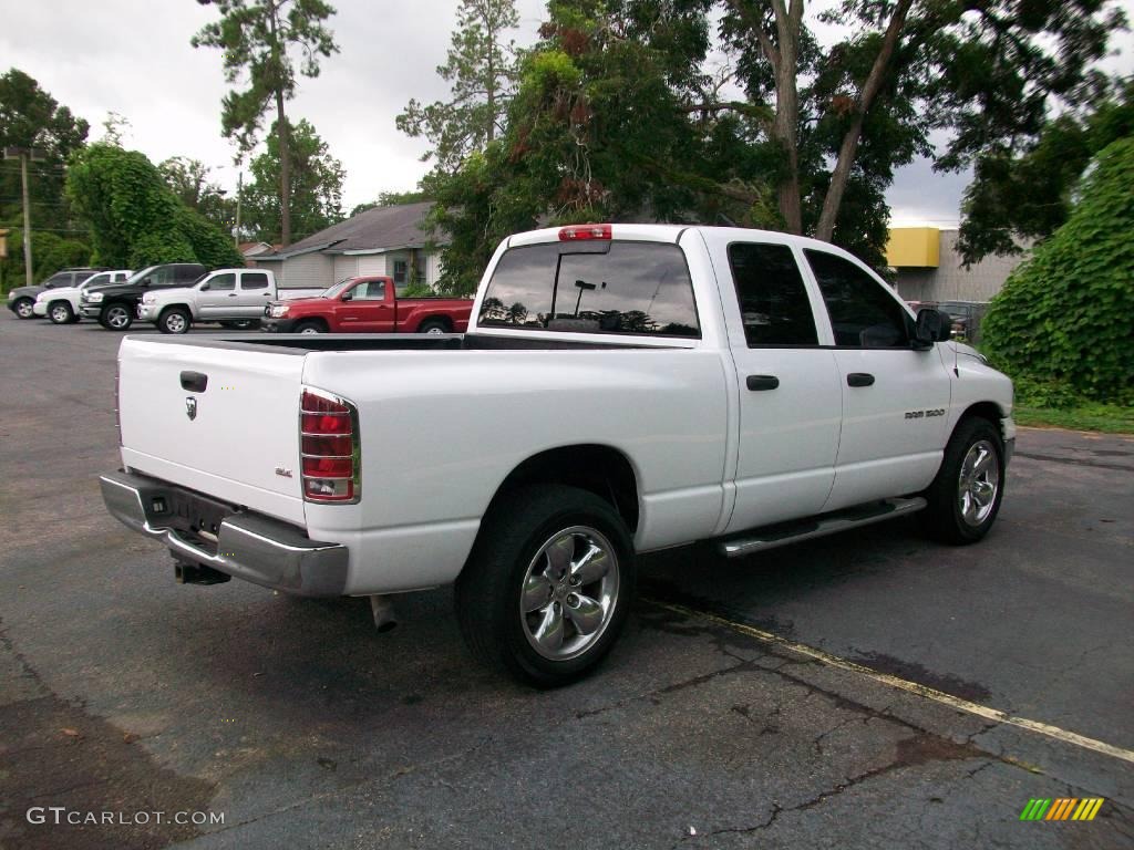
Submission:
{"label": "chrome rear bumper of the white Ram pickup", "polygon": [[127,528],[159,539],[179,561],[211,567],[299,596],[341,596],[347,584],[347,549],[320,543],[298,528],[255,513],[232,512],[220,520],[215,551],[204,538],[192,541],[175,527],[175,504],[215,502],[174,484],[136,473],[99,476],[107,510]]}

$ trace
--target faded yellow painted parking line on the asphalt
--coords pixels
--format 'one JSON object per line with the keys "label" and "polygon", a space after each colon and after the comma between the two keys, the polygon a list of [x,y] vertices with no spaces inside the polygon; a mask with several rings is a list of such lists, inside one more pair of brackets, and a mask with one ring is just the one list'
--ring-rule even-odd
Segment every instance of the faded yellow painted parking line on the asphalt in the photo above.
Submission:
{"label": "faded yellow painted parking line on the asphalt", "polygon": [[924,685],[919,685],[917,682],[911,682],[906,679],[899,679],[896,675],[890,675],[889,673],[880,673],[877,670],[871,670],[870,668],[863,666],[862,664],[856,664],[853,661],[847,661],[846,658],[840,658],[837,655],[831,655],[822,649],[816,649],[813,646],[807,646],[806,644],[797,644],[794,640],[787,640],[778,635],[773,635],[770,631],[763,631],[762,629],[756,629],[752,626],[746,626],[745,623],[734,622],[723,617],[709,613],[708,611],[697,611],[696,609],[686,607],[685,605],[678,605],[670,602],[660,602],[658,600],[646,600],[651,605],[658,607],[667,609],[675,613],[682,614],[684,617],[699,618],[702,620],[708,620],[718,626],[723,626],[727,629],[737,631],[742,635],[747,635],[748,637],[755,638],[764,644],[773,644],[776,646],[781,646],[785,649],[790,649],[792,652],[799,653],[801,655],[806,655],[807,657],[814,658],[815,661],[822,662],[828,666],[838,668],[839,670],[847,670],[852,673],[858,673],[873,679],[882,685],[888,685],[891,688],[897,688],[898,690],[905,690],[909,694],[916,694],[925,699],[932,699],[934,703],[940,703],[947,705],[950,708],[956,708],[962,712],[967,712],[968,714],[975,714],[979,717],[985,717],[987,720],[996,721],[997,723],[1006,723],[1012,726],[1018,726],[1021,729],[1026,729],[1030,732],[1038,732],[1039,734],[1048,736],[1049,738],[1055,738],[1056,740],[1064,741],[1065,743],[1070,743],[1075,747],[1081,747],[1083,749],[1093,750],[1094,753],[1101,753],[1105,756],[1110,756],[1111,758],[1120,758],[1124,762],[1129,762],[1134,764],[1134,750],[1123,749],[1122,747],[1116,747],[1112,743],[1107,743],[1106,741],[1099,741],[1094,738],[1088,738],[1086,736],[1078,734],[1077,732],[1069,732],[1066,729],[1060,729],[1059,726],[1053,726],[1050,723],[1040,723],[1035,720],[1029,720],[1027,717],[1017,717],[1016,715],[1002,712],[999,708],[990,708],[987,705],[980,705],[979,703],[971,703],[967,699],[962,699],[960,697],[955,697],[950,694],[946,694],[934,688],[926,687]]}

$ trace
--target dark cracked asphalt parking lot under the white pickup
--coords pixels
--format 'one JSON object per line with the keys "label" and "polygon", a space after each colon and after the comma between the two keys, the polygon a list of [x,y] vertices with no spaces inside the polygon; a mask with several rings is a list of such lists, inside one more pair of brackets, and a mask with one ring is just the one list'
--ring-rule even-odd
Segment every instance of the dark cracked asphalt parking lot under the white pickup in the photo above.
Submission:
{"label": "dark cracked asphalt parking lot under the white pickup", "polygon": [[0,315],[0,848],[1134,845],[1134,439],[1022,431],[979,546],[645,559],[606,665],[535,692],[446,589],[379,635],[176,585],[99,495],[118,339]]}

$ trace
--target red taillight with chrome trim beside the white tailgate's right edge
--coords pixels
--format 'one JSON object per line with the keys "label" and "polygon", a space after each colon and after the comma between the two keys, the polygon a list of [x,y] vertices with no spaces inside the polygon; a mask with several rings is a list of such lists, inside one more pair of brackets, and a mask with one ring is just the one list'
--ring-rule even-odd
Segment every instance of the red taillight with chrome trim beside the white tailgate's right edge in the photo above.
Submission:
{"label": "red taillight with chrome trim beside the white tailgate's right edge", "polygon": [[361,494],[358,409],[305,388],[299,400],[301,476],[308,502],[357,502]]}

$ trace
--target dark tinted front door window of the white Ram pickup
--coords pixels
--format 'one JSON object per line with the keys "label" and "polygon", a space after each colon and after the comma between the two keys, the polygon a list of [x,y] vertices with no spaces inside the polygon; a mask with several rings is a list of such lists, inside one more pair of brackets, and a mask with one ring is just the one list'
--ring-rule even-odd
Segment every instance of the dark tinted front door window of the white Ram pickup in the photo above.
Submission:
{"label": "dark tinted front door window of the white Ram pickup", "polygon": [[823,294],[836,346],[908,348],[908,317],[883,284],[843,257],[822,250],[804,254]]}

